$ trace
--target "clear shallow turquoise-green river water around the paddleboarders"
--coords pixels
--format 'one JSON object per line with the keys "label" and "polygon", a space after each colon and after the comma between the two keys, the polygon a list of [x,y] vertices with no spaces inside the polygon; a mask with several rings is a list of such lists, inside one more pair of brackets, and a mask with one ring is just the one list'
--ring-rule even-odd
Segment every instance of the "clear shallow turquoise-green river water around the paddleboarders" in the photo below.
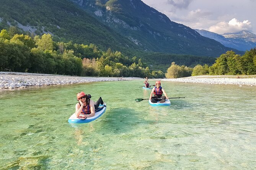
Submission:
{"label": "clear shallow turquoise-green river water around the paddleboarders", "polygon": [[[0,169],[256,168],[256,88],[162,82],[171,106],[152,107],[143,81],[0,91]],[[107,104],[69,124],[76,94]]]}

